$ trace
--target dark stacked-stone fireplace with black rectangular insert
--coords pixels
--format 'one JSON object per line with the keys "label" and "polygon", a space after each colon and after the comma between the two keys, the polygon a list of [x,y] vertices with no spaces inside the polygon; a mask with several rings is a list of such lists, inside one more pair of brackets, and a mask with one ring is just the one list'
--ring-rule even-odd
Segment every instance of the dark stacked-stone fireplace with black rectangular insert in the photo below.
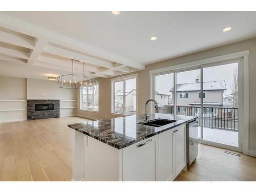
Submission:
{"label": "dark stacked-stone fireplace with black rectangular insert", "polygon": [[59,117],[59,100],[27,100],[27,119]]}

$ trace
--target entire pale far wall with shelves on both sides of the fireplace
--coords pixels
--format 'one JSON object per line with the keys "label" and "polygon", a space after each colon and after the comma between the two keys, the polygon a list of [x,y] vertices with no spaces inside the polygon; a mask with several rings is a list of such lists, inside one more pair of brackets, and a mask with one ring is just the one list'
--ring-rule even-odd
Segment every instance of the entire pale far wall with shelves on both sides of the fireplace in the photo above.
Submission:
{"label": "entire pale far wall with shelves on both sides of the fireplace", "polygon": [[76,106],[76,90],[60,89],[57,81],[0,76],[0,122],[26,120],[27,99],[59,99],[60,117],[76,114],[69,108]]}

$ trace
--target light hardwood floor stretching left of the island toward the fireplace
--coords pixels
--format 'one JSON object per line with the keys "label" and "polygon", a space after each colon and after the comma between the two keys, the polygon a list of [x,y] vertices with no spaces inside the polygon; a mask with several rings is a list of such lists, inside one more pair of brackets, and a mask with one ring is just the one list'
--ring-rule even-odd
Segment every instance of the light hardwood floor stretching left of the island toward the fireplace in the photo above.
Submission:
{"label": "light hardwood floor stretching left of the island toward the fireplace", "polygon": [[0,123],[0,180],[70,181],[72,177],[69,123],[63,117]]}

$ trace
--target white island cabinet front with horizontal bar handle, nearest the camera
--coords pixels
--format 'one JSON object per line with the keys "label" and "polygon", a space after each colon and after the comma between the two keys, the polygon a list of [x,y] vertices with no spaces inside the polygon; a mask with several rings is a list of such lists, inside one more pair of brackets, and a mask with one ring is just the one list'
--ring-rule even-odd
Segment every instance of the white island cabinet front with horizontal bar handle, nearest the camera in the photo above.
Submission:
{"label": "white island cabinet front with horizontal bar handle, nearest the camera", "polygon": [[156,181],[158,135],[123,148],[123,181]]}

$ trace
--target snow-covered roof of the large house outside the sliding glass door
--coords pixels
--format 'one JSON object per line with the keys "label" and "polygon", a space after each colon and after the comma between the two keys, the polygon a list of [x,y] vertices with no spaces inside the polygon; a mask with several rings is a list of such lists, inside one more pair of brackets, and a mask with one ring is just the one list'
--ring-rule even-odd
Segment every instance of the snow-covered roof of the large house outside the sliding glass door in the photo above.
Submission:
{"label": "snow-covered roof of the large house outside the sliding glass door", "polygon": [[[204,91],[210,91],[210,90],[227,90],[226,82],[224,80],[222,81],[208,81],[203,82]],[[194,83],[183,83],[183,84],[177,84],[177,92],[178,91],[200,91],[201,89],[200,82],[194,82]],[[173,92],[174,88],[172,88],[169,92]]]}

